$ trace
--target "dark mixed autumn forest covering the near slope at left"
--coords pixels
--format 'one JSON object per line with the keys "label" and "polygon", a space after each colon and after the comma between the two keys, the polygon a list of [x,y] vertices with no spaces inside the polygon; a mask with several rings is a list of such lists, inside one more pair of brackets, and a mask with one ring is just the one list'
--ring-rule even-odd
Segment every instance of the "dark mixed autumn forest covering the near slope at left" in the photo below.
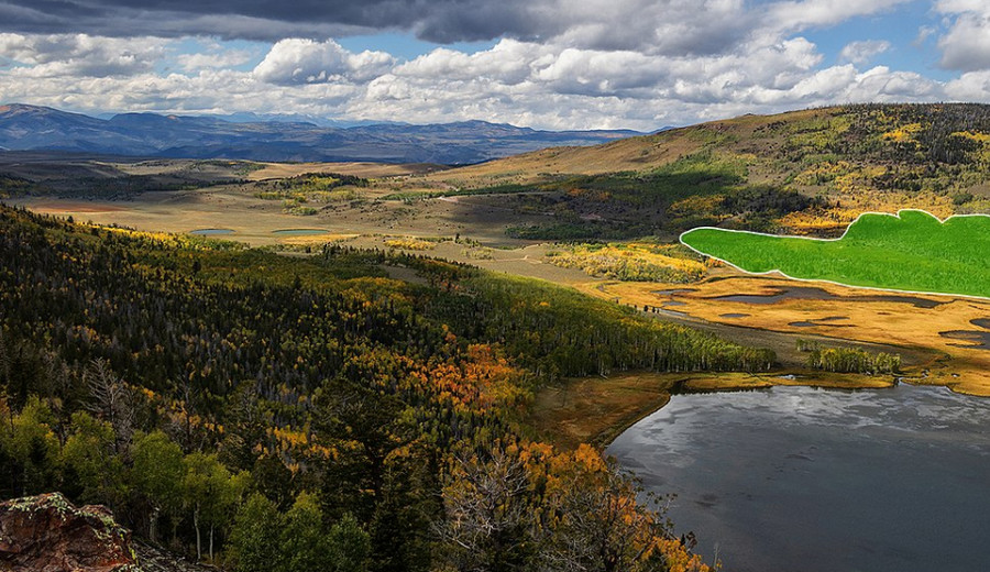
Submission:
{"label": "dark mixed autumn forest covering the near slope at left", "polygon": [[569,376],[773,362],[462,264],[0,207],[0,496],[106,504],[224,570],[708,570],[660,499],[522,414]]}

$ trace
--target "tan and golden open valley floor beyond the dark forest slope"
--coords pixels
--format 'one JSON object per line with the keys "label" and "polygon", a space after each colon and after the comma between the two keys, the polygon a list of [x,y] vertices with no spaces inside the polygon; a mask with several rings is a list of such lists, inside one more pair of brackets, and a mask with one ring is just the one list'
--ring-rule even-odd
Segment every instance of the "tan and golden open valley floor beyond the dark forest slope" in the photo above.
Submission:
{"label": "tan and golden open valley floor beyond the dark forest slope", "polygon": [[[271,170],[276,167],[282,170]],[[255,170],[251,179],[320,168],[276,167]],[[346,166],[349,173],[364,176],[399,173],[398,167],[383,173],[372,167]],[[339,172],[343,167],[322,168]],[[602,378],[574,380],[547,388],[536,398],[532,422],[548,439],[563,446],[586,441],[606,444],[623,429],[661,407],[671,391],[792,384],[882,387],[903,381],[990,396],[990,329],[986,327],[990,302],[950,296],[889,295],[825,283],[750,276],[726,267],[713,268],[707,278],[686,285],[593,278],[579,268],[551,264],[550,255],[558,250],[552,243],[507,238],[506,227],[527,222],[527,216],[501,207],[497,197],[441,197],[408,202],[378,200],[389,189],[372,188],[362,190],[364,200],[331,205],[317,216],[300,217],[284,211],[279,201],[258,198],[245,185],[143,193],[133,200],[29,197],[8,202],[37,212],[72,216],[77,221],[144,231],[188,233],[226,229],[232,232],[219,238],[299,255],[305,255],[307,246],[334,242],[442,257],[571,286],[591,296],[635,306],[657,319],[777,352],[780,365],[769,375],[625,373],[607,383],[602,383]],[[530,218],[544,217],[532,213]],[[799,340],[898,354],[902,369],[897,376],[812,371],[805,365],[806,352],[798,349]]]}

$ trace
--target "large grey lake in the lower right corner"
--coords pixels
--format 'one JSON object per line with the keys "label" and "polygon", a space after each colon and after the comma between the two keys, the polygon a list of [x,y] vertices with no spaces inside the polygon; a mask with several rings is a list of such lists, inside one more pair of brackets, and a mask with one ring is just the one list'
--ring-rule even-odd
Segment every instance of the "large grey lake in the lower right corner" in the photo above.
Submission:
{"label": "large grey lake in the lower right corner", "polygon": [[675,395],[608,448],[725,570],[986,570],[990,399],[942,387]]}

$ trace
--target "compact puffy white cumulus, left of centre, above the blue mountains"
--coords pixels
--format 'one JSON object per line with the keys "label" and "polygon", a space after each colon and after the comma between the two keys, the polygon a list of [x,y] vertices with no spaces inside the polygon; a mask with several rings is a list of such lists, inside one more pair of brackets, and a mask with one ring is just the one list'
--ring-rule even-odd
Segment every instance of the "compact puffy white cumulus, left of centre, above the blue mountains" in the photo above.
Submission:
{"label": "compact puffy white cumulus, left of centre, above the blue mountains", "polygon": [[388,70],[395,59],[385,52],[351,53],[337,42],[288,38],[277,42],[254,68],[268,84],[367,81]]}

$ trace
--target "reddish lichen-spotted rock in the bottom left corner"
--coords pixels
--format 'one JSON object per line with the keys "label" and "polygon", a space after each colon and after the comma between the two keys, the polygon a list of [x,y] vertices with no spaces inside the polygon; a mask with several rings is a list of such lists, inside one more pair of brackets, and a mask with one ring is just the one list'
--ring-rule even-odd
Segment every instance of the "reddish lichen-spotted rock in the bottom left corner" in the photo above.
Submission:
{"label": "reddish lichen-spotted rock in the bottom left corner", "polygon": [[130,540],[106,507],[76,508],[59,493],[0,503],[0,571],[136,571]]}

